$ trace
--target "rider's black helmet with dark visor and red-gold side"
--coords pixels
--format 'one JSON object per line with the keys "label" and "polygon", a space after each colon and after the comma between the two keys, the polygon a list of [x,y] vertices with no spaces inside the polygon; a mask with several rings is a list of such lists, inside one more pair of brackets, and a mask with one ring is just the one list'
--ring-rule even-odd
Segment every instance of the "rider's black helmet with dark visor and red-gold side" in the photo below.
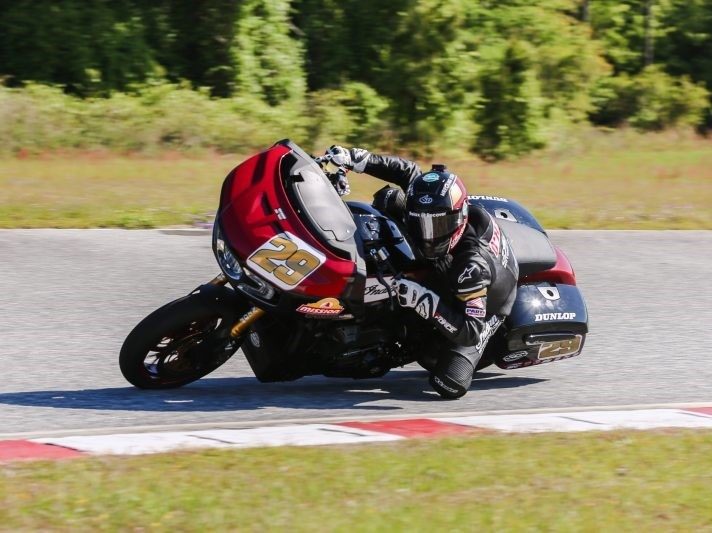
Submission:
{"label": "rider's black helmet with dark visor and red-gold side", "polygon": [[444,165],[410,182],[406,196],[406,224],[413,243],[429,260],[444,257],[467,226],[467,190]]}

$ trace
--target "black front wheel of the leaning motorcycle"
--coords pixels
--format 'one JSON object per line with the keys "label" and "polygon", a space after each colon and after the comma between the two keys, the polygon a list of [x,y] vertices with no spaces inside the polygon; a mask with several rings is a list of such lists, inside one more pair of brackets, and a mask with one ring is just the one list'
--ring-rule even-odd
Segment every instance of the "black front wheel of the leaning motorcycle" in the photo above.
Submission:
{"label": "black front wheel of the leaning motorcycle", "polygon": [[206,376],[240,347],[230,328],[247,310],[234,298],[197,292],[157,309],[129,333],[119,367],[141,389],[182,387]]}

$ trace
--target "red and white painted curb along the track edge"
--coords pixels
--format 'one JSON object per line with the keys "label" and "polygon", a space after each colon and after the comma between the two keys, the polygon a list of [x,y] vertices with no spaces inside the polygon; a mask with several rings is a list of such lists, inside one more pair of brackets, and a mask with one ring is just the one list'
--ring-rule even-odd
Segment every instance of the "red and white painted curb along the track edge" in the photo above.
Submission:
{"label": "red and white painted curb along the track edge", "polygon": [[712,406],[492,414],[5,440],[0,441],[0,462],[23,459],[64,459],[83,455],[140,455],[201,448],[391,442],[408,438],[455,435],[473,430],[539,433],[657,428],[712,429]]}

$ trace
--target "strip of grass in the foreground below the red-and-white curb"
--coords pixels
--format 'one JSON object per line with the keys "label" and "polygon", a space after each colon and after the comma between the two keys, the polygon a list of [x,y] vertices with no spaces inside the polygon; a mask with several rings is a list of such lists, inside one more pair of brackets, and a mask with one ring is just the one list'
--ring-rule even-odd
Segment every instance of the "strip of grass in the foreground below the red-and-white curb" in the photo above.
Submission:
{"label": "strip of grass in the foreground below the red-and-white curb", "polygon": [[712,432],[481,434],[8,464],[0,529],[710,531]]}

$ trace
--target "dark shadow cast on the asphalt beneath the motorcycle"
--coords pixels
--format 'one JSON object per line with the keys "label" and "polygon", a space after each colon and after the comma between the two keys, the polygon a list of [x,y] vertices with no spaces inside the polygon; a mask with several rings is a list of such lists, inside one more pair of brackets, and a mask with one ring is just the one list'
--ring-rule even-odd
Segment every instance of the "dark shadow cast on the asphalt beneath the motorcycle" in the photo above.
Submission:
{"label": "dark shadow cast on the asphalt beneath the motorcycle", "polygon": [[[471,390],[509,389],[546,381],[475,375]],[[181,389],[152,391],[133,387],[0,394],[0,404],[100,411],[216,412],[266,407],[293,409],[368,409],[393,411],[405,406],[374,405],[378,400],[433,402],[427,372],[401,370],[378,379],[351,380],[307,377],[284,383],[260,383],[255,378],[205,378]],[[489,379],[497,378],[497,379]],[[363,405],[367,404],[367,405]]]}

